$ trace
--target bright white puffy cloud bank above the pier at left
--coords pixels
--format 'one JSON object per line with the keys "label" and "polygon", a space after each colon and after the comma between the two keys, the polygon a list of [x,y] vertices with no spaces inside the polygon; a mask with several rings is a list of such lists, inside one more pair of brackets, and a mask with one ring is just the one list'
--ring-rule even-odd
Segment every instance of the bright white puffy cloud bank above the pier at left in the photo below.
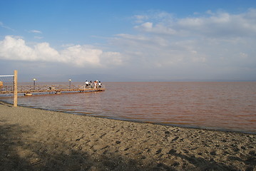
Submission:
{"label": "bright white puffy cloud bank above the pier at left", "polygon": [[31,48],[22,38],[6,36],[0,41],[0,58],[15,61],[47,61],[69,63],[73,66],[115,66],[122,63],[121,53],[103,52],[91,46],[68,46],[61,51],[51,48],[49,43],[36,43]]}

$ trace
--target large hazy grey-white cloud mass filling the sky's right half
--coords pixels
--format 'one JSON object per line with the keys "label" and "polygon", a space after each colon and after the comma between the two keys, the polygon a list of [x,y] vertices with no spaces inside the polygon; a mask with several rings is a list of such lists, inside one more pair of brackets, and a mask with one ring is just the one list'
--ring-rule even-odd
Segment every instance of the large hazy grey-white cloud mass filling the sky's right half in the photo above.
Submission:
{"label": "large hazy grey-white cloud mass filling the sky's right half", "polygon": [[256,71],[255,9],[242,14],[208,11],[180,19],[164,12],[145,16],[137,17],[143,20],[134,26],[137,34],[118,34],[111,41],[130,66],[175,73],[190,68],[191,74],[205,76],[230,74],[233,68],[241,73],[245,68]]}

